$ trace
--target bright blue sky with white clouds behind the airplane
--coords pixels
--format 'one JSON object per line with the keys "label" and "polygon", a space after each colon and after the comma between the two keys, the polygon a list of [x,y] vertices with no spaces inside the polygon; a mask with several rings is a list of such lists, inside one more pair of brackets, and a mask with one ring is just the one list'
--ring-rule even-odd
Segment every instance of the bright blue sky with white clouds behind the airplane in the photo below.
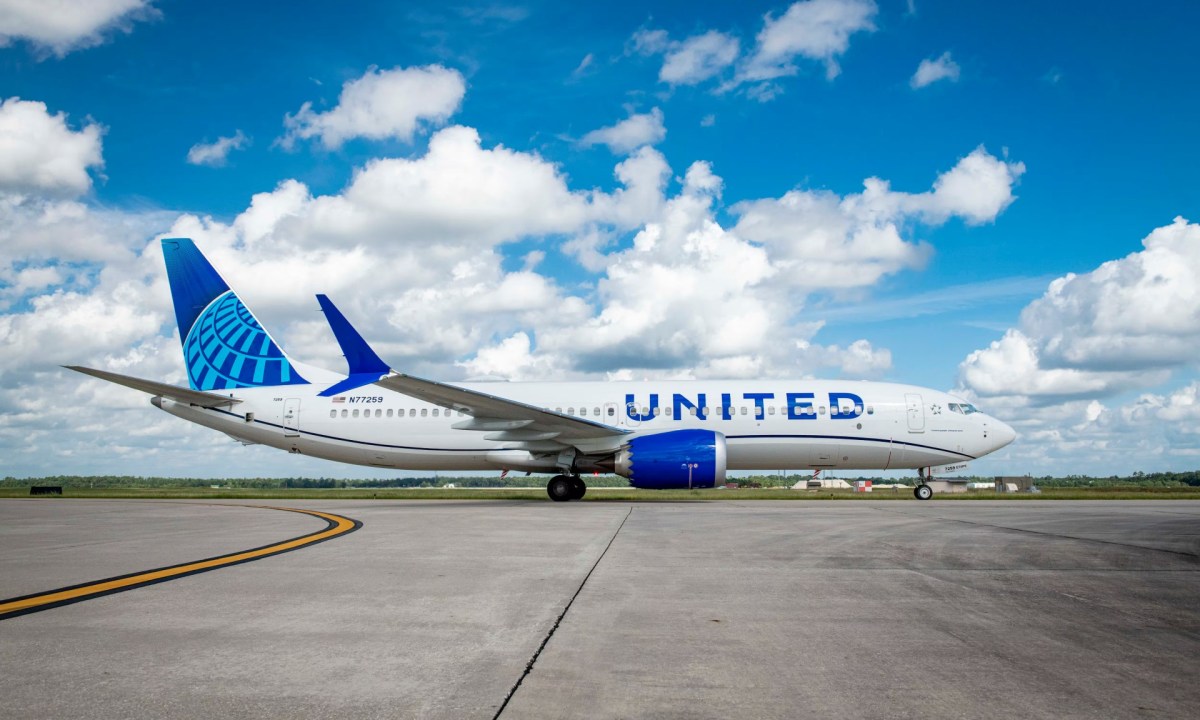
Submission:
{"label": "bright blue sky with white clouds behind the airplane", "polygon": [[55,370],[181,379],[173,234],[334,368],[318,292],[431,377],[889,379],[1021,431],[980,473],[1190,469],[1198,16],[0,1],[0,474],[244,474]]}

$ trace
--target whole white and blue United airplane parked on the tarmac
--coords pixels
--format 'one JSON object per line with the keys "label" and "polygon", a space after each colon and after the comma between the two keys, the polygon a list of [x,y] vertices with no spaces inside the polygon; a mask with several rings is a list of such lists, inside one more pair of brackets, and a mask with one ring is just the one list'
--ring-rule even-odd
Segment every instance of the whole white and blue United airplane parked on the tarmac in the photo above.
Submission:
{"label": "whole white and blue United airplane parked on the tarmac", "polygon": [[852,380],[442,383],[391,368],[325,295],[348,370],[294,360],[196,244],[162,240],[190,388],[66,366],[150,394],[172,415],[244,444],[376,468],[554,473],[577,500],[587,473],[637,488],[710,488],[728,470],[934,468],[1015,439],[962,398]]}

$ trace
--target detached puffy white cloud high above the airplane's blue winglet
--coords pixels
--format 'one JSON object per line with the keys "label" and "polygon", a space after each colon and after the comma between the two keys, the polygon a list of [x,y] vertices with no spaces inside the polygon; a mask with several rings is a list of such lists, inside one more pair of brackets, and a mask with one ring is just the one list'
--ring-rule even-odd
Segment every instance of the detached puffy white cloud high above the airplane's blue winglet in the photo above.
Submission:
{"label": "detached puffy white cloud high above the airplane's blue winglet", "polygon": [[410,140],[421,125],[445,124],[458,110],[467,91],[462,74],[440,65],[425,67],[372,67],[342,85],[337,106],[328,112],[304,103],[283,124],[284,148],[317,138],[328,149],[352,138]]}

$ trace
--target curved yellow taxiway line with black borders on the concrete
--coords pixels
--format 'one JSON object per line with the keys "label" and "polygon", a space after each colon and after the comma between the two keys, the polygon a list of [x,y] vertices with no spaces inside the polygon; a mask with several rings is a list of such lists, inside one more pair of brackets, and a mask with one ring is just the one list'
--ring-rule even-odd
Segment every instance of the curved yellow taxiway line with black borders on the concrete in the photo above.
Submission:
{"label": "curved yellow taxiway line with black borders on the concrete", "polygon": [[244,550],[240,552],[217,556],[215,558],[193,560],[191,563],[182,563],[180,565],[170,565],[169,568],[160,568],[157,570],[145,570],[142,572],[122,575],[120,577],[109,577],[106,580],[97,580],[83,584],[71,586],[67,588],[59,588],[56,590],[48,590],[44,593],[24,595],[22,598],[0,600],[0,620],[28,614],[31,612],[49,610],[52,607],[60,607],[62,605],[71,605],[72,602],[91,600],[92,598],[112,595],[113,593],[122,593],[125,590],[132,590],[157,582],[166,582],[168,580],[176,580],[179,577],[185,577],[187,575],[196,575],[197,572],[206,572],[209,570],[216,570],[217,568],[226,568],[228,565],[236,565],[239,563],[250,563],[252,560],[260,560],[263,558],[280,554],[281,552],[299,550],[301,547],[307,547],[317,542],[331,540],[334,538],[337,538],[338,535],[353,533],[354,530],[362,527],[362,523],[356,520],[350,520],[349,517],[342,517],[341,515],[334,515],[332,512],[320,512],[317,510],[300,510],[298,508],[272,508],[269,505],[236,505],[236,506],[259,508],[264,510],[284,510],[287,512],[300,512],[304,515],[312,515],[313,517],[319,517],[329,524],[325,526],[325,529],[323,530],[317,530],[316,533],[300,535],[298,538],[292,538],[289,540],[282,540],[280,542],[275,542],[271,545],[264,545],[263,547],[256,547],[253,550]]}

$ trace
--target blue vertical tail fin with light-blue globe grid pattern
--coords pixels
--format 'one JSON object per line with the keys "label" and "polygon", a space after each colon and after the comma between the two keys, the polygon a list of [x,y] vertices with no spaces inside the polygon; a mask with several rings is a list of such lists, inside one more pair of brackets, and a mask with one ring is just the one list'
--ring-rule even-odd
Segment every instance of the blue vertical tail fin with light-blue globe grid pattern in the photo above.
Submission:
{"label": "blue vertical tail fin with light-blue globe grid pattern", "polygon": [[162,256],[193,390],[307,384],[194,242],[166,239]]}

